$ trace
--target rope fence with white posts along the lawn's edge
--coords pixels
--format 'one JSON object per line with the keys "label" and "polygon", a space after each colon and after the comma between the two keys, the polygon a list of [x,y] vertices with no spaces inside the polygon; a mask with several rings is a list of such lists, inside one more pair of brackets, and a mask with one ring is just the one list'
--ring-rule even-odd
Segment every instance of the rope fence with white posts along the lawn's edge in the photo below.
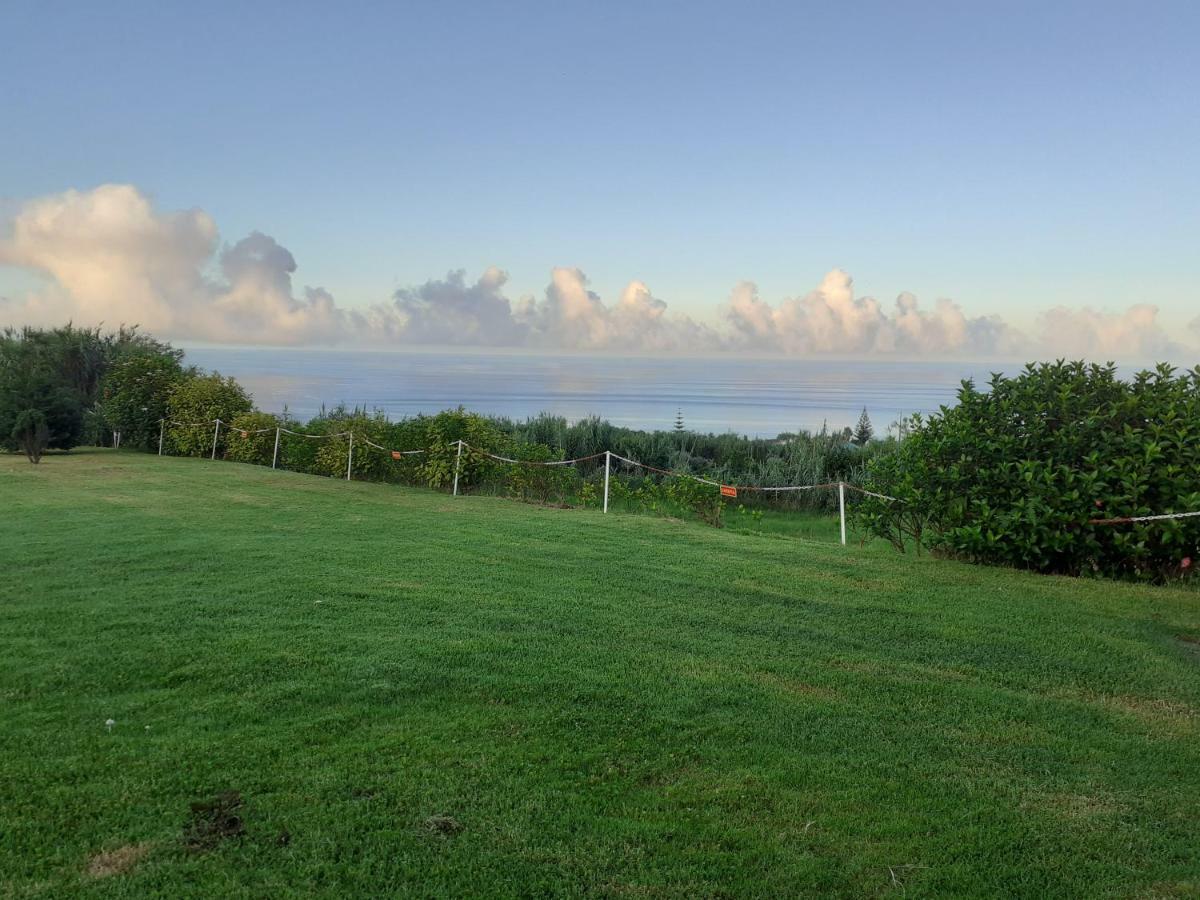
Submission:
{"label": "rope fence with white posts along the lawn's edge", "polygon": [[[198,427],[212,427],[212,450],[210,458],[216,458],[217,452],[217,440],[221,433],[221,426],[224,425],[229,431],[238,434],[239,437],[246,438],[251,434],[265,434],[268,432],[275,432],[275,450],[271,455],[271,468],[278,467],[280,458],[280,440],[283,434],[290,434],[298,438],[306,438],[308,440],[330,440],[334,438],[348,438],[349,446],[346,460],[346,480],[352,480],[353,464],[354,464],[354,432],[352,431],[340,431],[330,434],[308,434],[301,431],[292,431],[290,428],[284,428],[282,426],[275,428],[236,428],[229,422],[222,421],[221,419],[214,419],[211,421],[200,422],[180,422],[174,419],[161,419],[158,428],[158,456],[163,455],[163,439],[166,437],[166,428],[168,425],[180,427],[180,428],[198,428]],[[120,432],[113,432],[113,446],[120,448],[121,434]],[[380,452],[390,454],[394,460],[402,460],[407,456],[420,456],[428,454],[426,450],[394,450],[391,448],[377,444],[368,438],[360,438],[360,443],[366,444],[368,448],[379,450]],[[499,454],[493,454],[482,448],[473,446],[466,440],[455,440],[454,446],[456,446],[455,454],[455,468],[454,468],[454,487],[452,494],[458,496],[458,476],[462,468],[462,454],[463,450],[472,450],[481,456],[485,456],[498,462],[509,463],[512,466],[541,466],[541,467],[562,467],[562,466],[575,466],[582,462],[593,462],[595,460],[604,458],[604,512],[608,512],[608,487],[610,478],[612,474],[612,464],[616,460],[619,463],[625,463],[637,469],[644,469],[647,472],[653,472],[659,475],[665,475],[667,478],[690,478],[694,481],[698,481],[703,485],[709,485],[715,487],[721,492],[722,497],[737,497],[739,493],[762,493],[762,494],[779,494],[779,493],[799,493],[805,491],[822,491],[822,490],[838,490],[838,517],[841,532],[841,544],[846,544],[846,491],[853,491],[856,493],[863,494],[865,497],[874,497],[887,503],[901,503],[896,497],[889,497],[884,493],[876,493],[875,491],[869,491],[865,487],[859,487],[858,485],[851,485],[846,481],[828,481],[820,485],[781,485],[774,487],[766,487],[762,485],[727,485],[720,481],[714,481],[712,479],[704,478],[702,475],[695,475],[688,472],[674,472],[672,469],[659,468],[658,466],[650,466],[649,463],[640,462],[637,460],[630,460],[628,456],[622,456],[611,450],[604,450],[601,452],[590,454],[589,456],[577,456],[571,460],[515,460],[510,456],[500,456]],[[1092,526],[1120,526],[1120,524],[1134,524],[1139,522],[1164,522],[1170,520],[1180,518],[1195,518],[1200,517],[1200,510],[1193,512],[1166,512],[1162,515],[1147,515],[1147,516],[1117,516],[1112,518],[1091,518],[1087,521]]]}

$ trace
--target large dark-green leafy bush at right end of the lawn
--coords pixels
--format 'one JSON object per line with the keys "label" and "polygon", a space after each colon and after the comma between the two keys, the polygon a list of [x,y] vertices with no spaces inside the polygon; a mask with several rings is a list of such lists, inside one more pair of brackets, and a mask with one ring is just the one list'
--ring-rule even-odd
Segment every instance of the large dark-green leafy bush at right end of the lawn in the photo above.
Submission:
{"label": "large dark-green leafy bush at right end of the lawn", "polygon": [[1111,365],[1030,365],[965,382],[872,461],[860,523],[898,547],[1040,572],[1164,581],[1200,556],[1200,518],[1096,520],[1200,510],[1200,367],[1132,382]]}

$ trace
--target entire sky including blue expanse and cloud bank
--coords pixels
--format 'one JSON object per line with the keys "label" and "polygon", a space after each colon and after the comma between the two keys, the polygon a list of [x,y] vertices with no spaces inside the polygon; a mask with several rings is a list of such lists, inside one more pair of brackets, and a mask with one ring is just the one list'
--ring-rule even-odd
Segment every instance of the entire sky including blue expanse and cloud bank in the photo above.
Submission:
{"label": "entire sky including blue expanse and cloud bank", "polygon": [[4,20],[0,324],[1200,347],[1194,2],[8,0]]}

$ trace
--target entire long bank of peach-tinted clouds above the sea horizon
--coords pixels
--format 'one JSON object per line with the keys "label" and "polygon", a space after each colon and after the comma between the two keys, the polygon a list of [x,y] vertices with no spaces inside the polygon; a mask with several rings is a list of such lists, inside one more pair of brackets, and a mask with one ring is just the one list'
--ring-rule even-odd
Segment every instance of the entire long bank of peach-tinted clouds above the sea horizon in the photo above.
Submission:
{"label": "entire long bank of peach-tinted clouds above the sea horizon", "polygon": [[[131,185],[30,200],[0,230],[0,265],[41,274],[46,286],[0,298],[0,325],[139,324],[174,340],[278,346],[457,344],[658,353],[902,354],[920,356],[1170,358],[1187,353],[1150,304],[1110,313],[1055,307],[1033,334],[953,300],[924,308],[900,294],[888,306],[857,296],[829,271],[806,294],[772,305],[737,284],[707,324],[672,313],[641,281],[605,302],[575,268],[556,268],[541,296],[505,294],[490,268],[397,290],[388,302],[338,306],[320,287],[293,283],[296,262],[254,232],[222,246],[199,209],[161,212]],[[1192,323],[1200,340],[1200,318]]]}

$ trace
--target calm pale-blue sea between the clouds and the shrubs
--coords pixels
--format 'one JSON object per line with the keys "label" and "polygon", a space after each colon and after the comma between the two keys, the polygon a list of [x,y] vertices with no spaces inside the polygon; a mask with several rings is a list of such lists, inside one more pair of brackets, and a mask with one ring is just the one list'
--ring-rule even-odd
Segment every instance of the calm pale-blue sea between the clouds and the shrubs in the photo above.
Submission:
{"label": "calm pale-blue sea between the clouds and the shrubs", "polygon": [[882,433],[900,415],[953,401],[962,378],[984,383],[1000,365],[224,348],[188,349],[186,361],[235,376],[260,409],[286,406],[300,418],[322,404],[392,418],[462,404],[515,419],[546,410],[670,428],[682,410],[695,431],[768,437],[854,425],[863,407]]}

